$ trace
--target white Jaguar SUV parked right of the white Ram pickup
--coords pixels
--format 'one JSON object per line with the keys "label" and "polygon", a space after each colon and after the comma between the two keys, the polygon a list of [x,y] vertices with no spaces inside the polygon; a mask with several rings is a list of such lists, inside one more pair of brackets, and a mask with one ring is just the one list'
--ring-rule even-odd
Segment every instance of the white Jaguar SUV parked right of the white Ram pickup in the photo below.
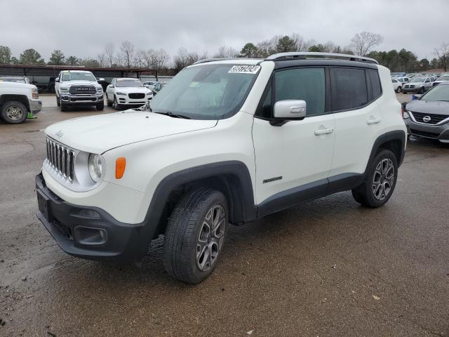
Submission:
{"label": "white Jaguar SUV parked right of the white Ram pickup", "polygon": [[131,105],[140,107],[152,98],[152,91],[140,79],[112,79],[112,83],[106,88],[107,106],[113,106],[115,110]]}

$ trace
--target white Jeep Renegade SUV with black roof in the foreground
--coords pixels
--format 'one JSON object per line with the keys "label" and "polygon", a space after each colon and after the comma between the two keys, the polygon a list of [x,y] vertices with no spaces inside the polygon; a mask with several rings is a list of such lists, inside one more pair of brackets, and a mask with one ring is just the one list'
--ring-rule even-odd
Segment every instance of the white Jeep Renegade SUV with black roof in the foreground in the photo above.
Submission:
{"label": "white Jeep Renegade SUV with black roof in the foreground", "polygon": [[141,111],[45,132],[37,216],[60,247],[137,261],[165,234],[166,270],[188,283],[213,271],[228,223],[344,190],[382,206],[406,149],[389,70],[327,53],[202,60]]}

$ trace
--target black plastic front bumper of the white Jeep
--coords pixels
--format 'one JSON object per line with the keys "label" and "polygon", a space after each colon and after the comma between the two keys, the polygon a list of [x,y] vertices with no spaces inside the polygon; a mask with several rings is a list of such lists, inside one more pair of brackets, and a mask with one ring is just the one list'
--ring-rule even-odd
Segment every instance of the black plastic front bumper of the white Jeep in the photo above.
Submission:
{"label": "black plastic front bumper of the white Jeep", "polygon": [[126,262],[145,256],[152,238],[145,225],[120,223],[102,209],[69,204],[46,187],[42,173],[36,176],[36,194],[37,218],[69,255]]}

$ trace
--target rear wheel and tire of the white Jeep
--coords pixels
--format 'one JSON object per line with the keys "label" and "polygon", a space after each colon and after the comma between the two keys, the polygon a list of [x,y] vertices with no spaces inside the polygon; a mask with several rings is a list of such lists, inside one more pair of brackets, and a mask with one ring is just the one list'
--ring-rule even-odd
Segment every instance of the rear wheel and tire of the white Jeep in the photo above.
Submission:
{"label": "rear wheel and tire of the white Jeep", "polygon": [[380,207],[393,194],[397,178],[396,156],[390,150],[381,150],[370,164],[366,180],[352,190],[352,195],[363,206]]}

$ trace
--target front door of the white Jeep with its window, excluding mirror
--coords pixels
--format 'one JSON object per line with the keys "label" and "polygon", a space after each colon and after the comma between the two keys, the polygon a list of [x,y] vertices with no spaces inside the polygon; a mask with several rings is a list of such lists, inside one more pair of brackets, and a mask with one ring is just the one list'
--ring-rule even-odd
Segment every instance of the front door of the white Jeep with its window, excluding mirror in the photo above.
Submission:
{"label": "front door of the white Jeep with its window, excluding mirror", "polygon": [[[306,117],[271,125],[279,100],[304,100]],[[253,124],[259,216],[325,194],[335,138],[333,115],[326,108],[324,67],[274,72]]]}

